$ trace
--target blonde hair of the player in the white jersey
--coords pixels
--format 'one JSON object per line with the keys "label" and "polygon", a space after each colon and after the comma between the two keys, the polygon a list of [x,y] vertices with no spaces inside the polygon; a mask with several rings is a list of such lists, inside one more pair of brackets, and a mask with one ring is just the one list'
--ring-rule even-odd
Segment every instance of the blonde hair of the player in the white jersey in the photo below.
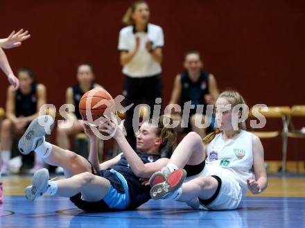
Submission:
{"label": "blonde hair of the player in the white jersey", "polygon": [[[245,105],[245,100],[243,99],[243,96],[241,96],[241,94],[238,93],[238,91],[235,90],[225,90],[223,91],[218,98],[226,98],[229,103],[232,105],[232,108],[235,105]],[[242,108],[240,109],[241,111]],[[239,125],[241,123],[238,123]],[[204,139],[202,139],[204,144],[209,144],[215,137],[216,134],[219,134],[221,131],[219,129],[216,129],[214,132],[211,132],[210,134],[207,134],[206,137],[204,137]]]}

